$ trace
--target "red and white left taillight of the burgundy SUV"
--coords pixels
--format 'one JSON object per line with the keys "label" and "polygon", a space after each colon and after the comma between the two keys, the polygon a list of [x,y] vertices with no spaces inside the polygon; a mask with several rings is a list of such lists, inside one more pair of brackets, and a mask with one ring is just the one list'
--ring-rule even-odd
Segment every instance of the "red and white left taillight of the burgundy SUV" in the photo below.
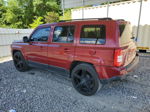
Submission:
{"label": "red and white left taillight of the burgundy SUV", "polygon": [[114,66],[119,67],[123,63],[123,53],[121,49],[116,49],[114,54]]}

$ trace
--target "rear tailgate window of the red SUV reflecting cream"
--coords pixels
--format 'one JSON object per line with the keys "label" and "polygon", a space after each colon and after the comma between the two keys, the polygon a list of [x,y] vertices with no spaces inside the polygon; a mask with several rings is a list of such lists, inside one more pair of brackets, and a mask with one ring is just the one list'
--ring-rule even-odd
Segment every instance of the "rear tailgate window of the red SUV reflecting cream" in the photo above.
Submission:
{"label": "rear tailgate window of the red SUV reflecting cream", "polygon": [[132,26],[131,24],[120,24],[119,25],[119,31],[120,31],[120,38],[119,43],[120,45],[127,44],[132,41]]}

